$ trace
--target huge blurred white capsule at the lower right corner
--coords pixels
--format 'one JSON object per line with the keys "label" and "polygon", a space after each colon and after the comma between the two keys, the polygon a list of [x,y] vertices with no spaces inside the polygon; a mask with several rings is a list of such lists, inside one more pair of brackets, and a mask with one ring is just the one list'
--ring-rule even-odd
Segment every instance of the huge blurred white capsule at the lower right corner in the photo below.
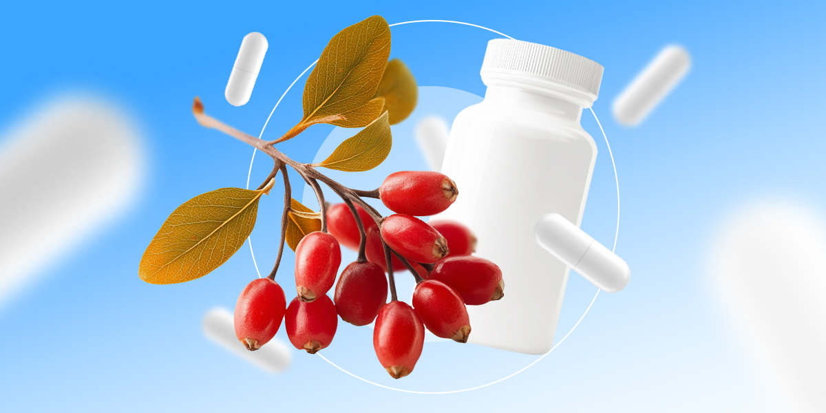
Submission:
{"label": "huge blurred white capsule at the lower right corner", "polygon": [[790,202],[736,211],[711,245],[712,282],[778,411],[826,411],[826,229]]}

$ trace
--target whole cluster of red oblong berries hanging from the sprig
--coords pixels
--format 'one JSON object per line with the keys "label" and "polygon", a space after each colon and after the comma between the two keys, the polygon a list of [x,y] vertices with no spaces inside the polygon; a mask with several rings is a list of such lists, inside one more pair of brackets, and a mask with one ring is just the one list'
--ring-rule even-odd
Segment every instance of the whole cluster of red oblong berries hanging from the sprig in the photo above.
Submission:
{"label": "whole cluster of red oblong berries hanging from the sprig", "polygon": [[[503,297],[499,267],[471,255],[476,238],[468,228],[452,221],[429,225],[416,217],[447,209],[458,196],[453,180],[437,172],[397,172],[368,193],[396,213],[382,218],[346,197],[327,208],[329,232],[312,232],[297,246],[297,297],[289,306],[271,278],[244,288],[235,306],[235,334],[247,349],[259,349],[272,339],[282,318],[292,345],[310,354],[330,345],[337,316],[353,325],[375,320],[373,347],[379,362],[393,378],[405,377],[421,355],[425,328],[465,343],[471,333],[466,305]],[[358,250],[358,259],[335,282],[339,244]],[[412,307],[396,298],[394,268],[410,270],[415,277]],[[330,300],[327,292],[334,283]]]}

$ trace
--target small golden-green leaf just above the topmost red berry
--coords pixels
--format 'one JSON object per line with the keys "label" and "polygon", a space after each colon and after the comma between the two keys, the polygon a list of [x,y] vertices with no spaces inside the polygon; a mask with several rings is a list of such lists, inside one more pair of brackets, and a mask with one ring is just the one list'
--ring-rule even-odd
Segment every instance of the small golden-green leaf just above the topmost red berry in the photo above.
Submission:
{"label": "small golden-green leaf just above the topmost red berry", "polygon": [[384,112],[355,136],[344,140],[330,157],[313,166],[344,172],[362,172],[376,168],[390,154],[393,143],[387,118],[387,112]]}

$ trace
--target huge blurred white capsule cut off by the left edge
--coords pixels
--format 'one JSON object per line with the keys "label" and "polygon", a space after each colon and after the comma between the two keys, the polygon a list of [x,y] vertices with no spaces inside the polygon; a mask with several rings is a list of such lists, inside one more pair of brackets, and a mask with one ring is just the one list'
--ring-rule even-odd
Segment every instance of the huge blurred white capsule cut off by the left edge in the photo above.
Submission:
{"label": "huge blurred white capsule cut off by the left edge", "polygon": [[0,303],[135,202],[142,143],[116,103],[92,96],[45,101],[0,136]]}

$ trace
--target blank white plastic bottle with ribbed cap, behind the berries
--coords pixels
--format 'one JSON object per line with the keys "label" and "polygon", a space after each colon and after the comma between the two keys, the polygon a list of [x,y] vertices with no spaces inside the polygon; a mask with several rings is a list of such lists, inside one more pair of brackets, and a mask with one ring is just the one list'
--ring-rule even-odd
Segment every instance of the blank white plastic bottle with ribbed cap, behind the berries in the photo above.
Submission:
{"label": "blank white plastic bottle with ribbed cap, behind the berries", "polygon": [[580,225],[596,161],[580,117],[601,79],[600,64],[564,50],[487,45],[485,100],[456,117],[442,166],[459,196],[435,217],[468,225],[476,255],[502,269],[505,297],[468,306],[471,343],[526,354],[553,345],[569,268],[536,244],[534,224],[557,212]]}

